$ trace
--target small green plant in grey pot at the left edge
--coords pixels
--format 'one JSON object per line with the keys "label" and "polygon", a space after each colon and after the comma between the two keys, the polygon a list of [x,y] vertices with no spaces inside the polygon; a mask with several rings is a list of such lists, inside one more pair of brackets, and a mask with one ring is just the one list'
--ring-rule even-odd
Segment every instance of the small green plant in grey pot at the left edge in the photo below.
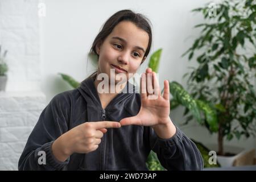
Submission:
{"label": "small green plant in grey pot at the left edge", "polygon": [[6,72],[8,71],[8,65],[6,64],[6,54],[7,50],[2,54],[2,47],[0,45],[0,91],[5,91],[6,82],[7,82],[7,75]]}

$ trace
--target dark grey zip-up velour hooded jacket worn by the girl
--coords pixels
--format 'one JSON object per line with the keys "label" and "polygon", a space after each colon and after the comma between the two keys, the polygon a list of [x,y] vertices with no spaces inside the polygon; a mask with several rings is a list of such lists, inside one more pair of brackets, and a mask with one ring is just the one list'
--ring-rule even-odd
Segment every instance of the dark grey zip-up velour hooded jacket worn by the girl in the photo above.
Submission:
{"label": "dark grey zip-up velour hooded jacket worn by the girl", "polygon": [[[161,139],[149,126],[122,126],[108,129],[97,150],[72,154],[59,162],[51,145],[73,127],[90,121],[120,121],[137,115],[141,96],[127,82],[127,93],[119,93],[105,109],[94,86],[94,78],[81,82],[77,89],[57,94],[40,114],[19,159],[19,170],[148,170],[146,160],[156,152],[167,170],[201,170],[203,159],[195,143],[177,128],[170,139]],[[41,151],[41,152],[40,152]],[[39,162],[42,151],[45,164]]]}

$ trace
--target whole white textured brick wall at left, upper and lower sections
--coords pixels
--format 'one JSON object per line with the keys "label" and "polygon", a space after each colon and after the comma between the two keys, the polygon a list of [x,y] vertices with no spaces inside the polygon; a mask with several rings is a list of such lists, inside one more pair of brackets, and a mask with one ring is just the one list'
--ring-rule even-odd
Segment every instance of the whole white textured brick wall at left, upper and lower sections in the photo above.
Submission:
{"label": "whole white textured brick wall at left, upper and lower sections", "polygon": [[40,92],[37,0],[0,0],[0,44],[7,49],[6,92],[0,92],[0,170],[18,169],[28,135],[46,106]]}

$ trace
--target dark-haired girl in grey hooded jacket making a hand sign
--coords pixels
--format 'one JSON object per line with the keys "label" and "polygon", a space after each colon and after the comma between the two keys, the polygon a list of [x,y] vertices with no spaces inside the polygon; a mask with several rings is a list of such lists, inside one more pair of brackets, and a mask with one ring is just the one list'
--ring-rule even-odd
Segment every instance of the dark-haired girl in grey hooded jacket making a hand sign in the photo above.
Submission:
{"label": "dark-haired girl in grey hooded jacket making a hand sign", "polygon": [[[146,59],[151,42],[151,27],[143,15],[130,10],[112,15],[91,48],[98,56],[98,71],[79,88],[52,98],[27,140],[19,170],[148,170],[151,150],[167,170],[202,169],[199,150],[169,117],[168,81],[161,96],[156,75],[148,68],[139,94],[130,82],[119,83],[118,75],[110,74],[122,73],[128,80]],[[110,80],[105,89],[117,84],[119,89],[99,92],[102,74]],[[150,99],[152,93],[157,98]]]}

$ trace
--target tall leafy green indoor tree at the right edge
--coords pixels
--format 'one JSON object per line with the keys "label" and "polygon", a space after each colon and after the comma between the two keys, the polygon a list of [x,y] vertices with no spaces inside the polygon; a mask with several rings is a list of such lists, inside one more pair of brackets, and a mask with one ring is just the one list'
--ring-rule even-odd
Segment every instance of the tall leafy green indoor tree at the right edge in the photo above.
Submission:
{"label": "tall leafy green indoor tree at the right edge", "polygon": [[256,1],[223,1],[216,15],[209,6],[193,11],[206,21],[195,26],[202,28],[200,36],[184,53],[197,61],[185,76],[192,97],[216,111],[218,130],[205,127],[217,133],[217,154],[225,155],[224,138],[255,136]]}

